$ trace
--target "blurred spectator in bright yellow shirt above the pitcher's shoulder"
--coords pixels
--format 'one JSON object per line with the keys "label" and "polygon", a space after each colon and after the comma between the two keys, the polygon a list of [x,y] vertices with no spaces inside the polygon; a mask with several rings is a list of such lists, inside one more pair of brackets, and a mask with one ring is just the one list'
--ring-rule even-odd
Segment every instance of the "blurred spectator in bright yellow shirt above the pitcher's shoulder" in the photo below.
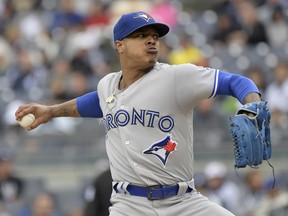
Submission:
{"label": "blurred spectator in bright yellow shirt above the pitcher's shoulder", "polygon": [[168,59],[170,64],[192,63],[199,66],[208,66],[208,61],[201,50],[191,40],[191,36],[182,34],[179,47],[172,49]]}

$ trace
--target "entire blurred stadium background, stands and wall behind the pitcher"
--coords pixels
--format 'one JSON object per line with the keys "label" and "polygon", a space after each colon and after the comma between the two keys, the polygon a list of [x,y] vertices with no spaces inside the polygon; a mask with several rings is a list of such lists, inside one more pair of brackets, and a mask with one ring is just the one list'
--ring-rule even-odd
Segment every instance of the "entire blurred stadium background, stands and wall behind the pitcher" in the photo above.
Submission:
{"label": "entire blurred stadium background, stands and wall behind the pitcher", "polygon": [[27,132],[14,113],[78,97],[119,71],[113,25],[139,10],[171,27],[160,62],[243,74],[269,103],[275,188],[266,161],[234,170],[229,117],[240,104],[217,97],[195,111],[199,191],[237,215],[287,216],[287,0],[0,0],[0,215],[88,215],[88,189],[108,168],[103,125],[62,118]]}

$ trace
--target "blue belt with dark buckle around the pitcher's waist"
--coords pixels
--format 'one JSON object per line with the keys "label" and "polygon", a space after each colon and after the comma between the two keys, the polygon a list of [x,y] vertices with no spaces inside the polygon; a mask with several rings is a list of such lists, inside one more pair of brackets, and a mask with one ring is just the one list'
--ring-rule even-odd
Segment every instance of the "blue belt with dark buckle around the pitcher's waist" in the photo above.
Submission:
{"label": "blue belt with dark buckle around the pitcher's waist", "polygon": [[[117,184],[114,186],[114,190],[116,191],[116,193],[120,193],[117,189]],[[146,197],[148,200],[160,200],[177,195],[179,185],[155,185],[147,187],[128,185],[126,190],[132,196]],[[186,193],[189,193],[192,190],[192,188],[188,187]]]}

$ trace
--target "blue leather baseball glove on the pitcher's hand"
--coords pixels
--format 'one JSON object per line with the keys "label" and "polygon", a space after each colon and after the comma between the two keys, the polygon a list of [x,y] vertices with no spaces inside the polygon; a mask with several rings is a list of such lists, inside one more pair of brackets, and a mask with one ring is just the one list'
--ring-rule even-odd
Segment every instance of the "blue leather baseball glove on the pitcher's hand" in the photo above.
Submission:
{"label": "blue leather baseball glove on the pitcher's hand", "polygon": [[271,157],[270,118],[262,101],[245,104],[237,111],[230,125],[236,168],[255,167]]}

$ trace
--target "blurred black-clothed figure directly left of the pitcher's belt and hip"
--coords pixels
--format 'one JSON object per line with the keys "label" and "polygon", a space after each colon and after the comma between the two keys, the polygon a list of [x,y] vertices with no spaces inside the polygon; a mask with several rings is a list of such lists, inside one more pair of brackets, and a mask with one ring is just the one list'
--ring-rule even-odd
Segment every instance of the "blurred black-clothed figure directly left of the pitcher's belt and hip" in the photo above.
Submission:
{"label": "blurred black-clothed figure directly left of the pitcher's belt and hip", "polygon": [[110,169],[107,169],[84,191],[84,216],[108,216],[111,193],[112,177]]}

